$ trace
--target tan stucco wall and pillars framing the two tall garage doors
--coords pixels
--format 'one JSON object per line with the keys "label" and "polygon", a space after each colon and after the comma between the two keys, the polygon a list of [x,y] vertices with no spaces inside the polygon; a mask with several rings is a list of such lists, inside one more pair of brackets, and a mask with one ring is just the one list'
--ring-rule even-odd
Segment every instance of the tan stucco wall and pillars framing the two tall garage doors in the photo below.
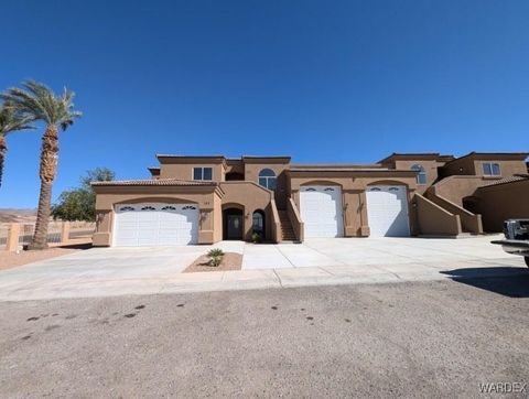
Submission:
{"label": "tan stucco wall and pillars framing the two tall garage doors", "polygon": [[345,237],[369,236],[369,220],[367,217],[366,188],[369,185],[406,185],[408,187],[408,211],[410,215],[411,234],[417,234],[414,207],[411,198],[417,190],[413,172],[290,172],[292,198],[300,209],[300,187],[303,185],[338,185],[342,187],[342,203],[344,207]]}

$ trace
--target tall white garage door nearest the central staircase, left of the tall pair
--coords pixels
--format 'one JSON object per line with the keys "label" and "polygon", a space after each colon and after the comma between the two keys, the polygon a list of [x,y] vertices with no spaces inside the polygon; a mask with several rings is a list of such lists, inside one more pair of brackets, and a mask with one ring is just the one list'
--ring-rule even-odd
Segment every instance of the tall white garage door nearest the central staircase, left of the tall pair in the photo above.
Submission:
{"label": "tall white garage door nearest the central staircase, left of the tall pair", "polygon": [[338,186],[301,187],[300,213],[305,226],[305,238],[344,235],[342,190]]}

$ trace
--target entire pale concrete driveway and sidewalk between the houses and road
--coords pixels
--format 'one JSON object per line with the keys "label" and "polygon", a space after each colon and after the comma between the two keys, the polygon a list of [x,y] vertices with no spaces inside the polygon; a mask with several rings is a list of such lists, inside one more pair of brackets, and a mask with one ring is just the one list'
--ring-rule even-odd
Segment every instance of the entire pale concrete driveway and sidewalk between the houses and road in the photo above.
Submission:
{"label": "entire pale concrete driveway and sidewalk between the houses and road", "polygon": [[[0,300],[401,282],[525,274],[520,257],[467,239],[313,239],[304,244],[94,248],[0,272]],[[182,273],[213,247],[244,255],[242,270]]]}

